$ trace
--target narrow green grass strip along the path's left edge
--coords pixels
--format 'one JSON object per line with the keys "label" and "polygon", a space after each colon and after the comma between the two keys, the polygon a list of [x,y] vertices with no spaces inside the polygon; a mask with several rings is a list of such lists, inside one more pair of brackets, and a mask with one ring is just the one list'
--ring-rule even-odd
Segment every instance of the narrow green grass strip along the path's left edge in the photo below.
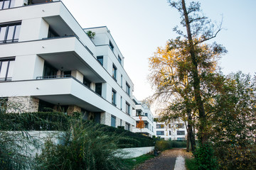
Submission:
{"label": "narrow green grass strip along the path's left edge", "polygon": [[[124,159],[124,164],[129,166],[129,169],[134,169],[135,166],[138,166],[139,164],[144,163],[146,160],[149,160],[151,158],[154,158],[153,154],[144,154],[140,157],[130,158],[130,159]],[[136,161],[134,161],[134,159]]]}

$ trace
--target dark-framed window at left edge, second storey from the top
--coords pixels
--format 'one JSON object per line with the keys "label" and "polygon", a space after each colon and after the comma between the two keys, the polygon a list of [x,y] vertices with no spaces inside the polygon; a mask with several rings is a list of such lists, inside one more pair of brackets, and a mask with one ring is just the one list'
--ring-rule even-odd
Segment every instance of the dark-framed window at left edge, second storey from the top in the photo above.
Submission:
{"label": "dark-framed window at left edge, second storey from the top", "polygon": [[0,25],[0,43],[18,42],[21,23],[8,23]]}

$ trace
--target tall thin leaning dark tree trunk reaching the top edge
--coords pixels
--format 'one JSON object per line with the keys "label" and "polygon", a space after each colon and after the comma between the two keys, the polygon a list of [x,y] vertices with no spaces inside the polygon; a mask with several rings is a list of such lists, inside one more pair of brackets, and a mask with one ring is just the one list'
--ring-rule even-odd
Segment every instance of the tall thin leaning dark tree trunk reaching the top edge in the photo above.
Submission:
{"label": "tall thin leaning dark tree trunk reaching the top edge", "polygon": [[183,15],[185,17],[186,22],[186,30],[188,35],[188,43],[189,43],[189,53],[191,55],[191,61],[193,63],[193,69],[192,69],[192,77],[193,77],[193,88],[194,88],[194,95],[196,99],[196,107],[199,112],[199,129],[198,129],[198,138],[199,141],[203,144],[207,142],[208,137],[205,133],[205,127],[206,127],[206,112],[203,107],[203,101],[201,97],[201,89],[200,89],[200,79],[198,76],[198,63],[196,61],[196,52],[195,47],[193,44],[193,38],[191,34],[191,27],[188,20],[188,12],[186,10],[186,4],[185,0],[182,0],[182,8],[183,8]]}

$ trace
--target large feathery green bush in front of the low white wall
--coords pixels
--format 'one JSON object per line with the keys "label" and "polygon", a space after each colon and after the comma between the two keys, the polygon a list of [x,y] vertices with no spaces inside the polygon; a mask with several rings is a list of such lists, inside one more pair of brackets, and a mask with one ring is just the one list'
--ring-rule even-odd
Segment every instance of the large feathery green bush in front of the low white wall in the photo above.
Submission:
{"label": "large feathery green bush in front of the low white wall", "polygon": [[72,120],[65,135],[60,136],[61,144],[48,140],[37,157],[37,169],[127,169],[122,162],[118,141],[123,138],[112,133],[106,134],[100,124]]}

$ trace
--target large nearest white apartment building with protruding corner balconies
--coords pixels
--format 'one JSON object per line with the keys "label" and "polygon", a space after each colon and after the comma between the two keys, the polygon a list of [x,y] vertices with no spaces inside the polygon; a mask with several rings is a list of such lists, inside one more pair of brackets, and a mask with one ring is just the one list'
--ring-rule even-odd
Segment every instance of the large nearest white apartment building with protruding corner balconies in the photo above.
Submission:
{"label": "large nearest white apartment building with protruding corner balconies", "polygon": [[20,103],[24,112],[78,111],[132,130],[134,84],[107,27],[81,28],[62,1],[26,4],[0,1],[1,100]]}

